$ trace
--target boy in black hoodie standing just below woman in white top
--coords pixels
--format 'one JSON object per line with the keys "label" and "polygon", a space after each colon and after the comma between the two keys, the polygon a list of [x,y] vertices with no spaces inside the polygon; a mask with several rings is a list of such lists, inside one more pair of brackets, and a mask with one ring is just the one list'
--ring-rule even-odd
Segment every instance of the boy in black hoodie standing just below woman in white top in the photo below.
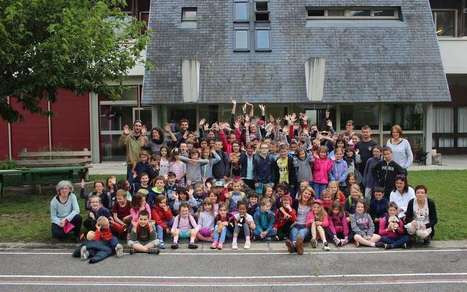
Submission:
{"label": "boy in black hoodie standing just below woman in white top", "polygon": [[377,185],[384,187],[384,197],[386,199],[389,199],[398,175],[405,175],[405,171],[397,162],[392,160],[391,148],[384,147],[383,160],[376,164],[373,169],[373,176],[376,178]]}

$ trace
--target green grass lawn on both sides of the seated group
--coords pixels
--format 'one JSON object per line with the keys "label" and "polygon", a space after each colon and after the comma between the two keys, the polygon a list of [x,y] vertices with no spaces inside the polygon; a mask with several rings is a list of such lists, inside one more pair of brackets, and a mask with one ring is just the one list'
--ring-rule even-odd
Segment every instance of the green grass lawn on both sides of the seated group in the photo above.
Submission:
{"label": "green grass lawn on both sides of the seated group", "polygon": [[[417,171],[412,186],[425,184],[438,211],[435,239],[467,239],[467,171]],[[101,179],[93,177],[92,179]],[[5,195],[0,201],[0,241],[49,241],[49,196]],[[80,201],[81,211],[83,201]]]}

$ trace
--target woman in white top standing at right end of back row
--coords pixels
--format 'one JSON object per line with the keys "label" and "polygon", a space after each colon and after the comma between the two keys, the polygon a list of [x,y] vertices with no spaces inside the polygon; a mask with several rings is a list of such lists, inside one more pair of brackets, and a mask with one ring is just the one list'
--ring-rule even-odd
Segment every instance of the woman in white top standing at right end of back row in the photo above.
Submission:
{"label": "woman in white top standing at right end of back row", "polygon": [[409,141],[402,138],[401,126],[392,126],[391,138],[386,143],[386,146],[391,148],[394,161],[397,162],[397,164],[399,164],[407,173],[407,169],[413,162],[413,153]]}

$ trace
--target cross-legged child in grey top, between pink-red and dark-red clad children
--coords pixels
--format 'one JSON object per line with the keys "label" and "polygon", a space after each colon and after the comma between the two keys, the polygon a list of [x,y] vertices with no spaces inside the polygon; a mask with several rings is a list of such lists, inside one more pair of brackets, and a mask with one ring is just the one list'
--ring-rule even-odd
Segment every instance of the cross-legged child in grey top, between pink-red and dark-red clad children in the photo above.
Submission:
{"label": "cross-legged child in grey top, between pink-red and dark-red clad children", "polygon": [[370,214],[366,212],[366,203],[363,199],[357,201],[355,213],[350,215],[352,232],[355,245],[360,244],[375,247],[375,243],[381,239],[381,236],[375,233],[375,225]]}

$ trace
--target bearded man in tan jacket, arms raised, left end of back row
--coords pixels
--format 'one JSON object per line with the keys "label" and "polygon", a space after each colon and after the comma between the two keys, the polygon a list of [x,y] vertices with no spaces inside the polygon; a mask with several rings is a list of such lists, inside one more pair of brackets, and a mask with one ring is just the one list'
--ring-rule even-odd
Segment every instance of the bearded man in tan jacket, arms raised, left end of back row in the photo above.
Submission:
{"label": "bearded man in tan jacket, arms raised, left end of back row", "polygon": [[120,137],[119,143],[126,148],[127,159],[127,179],[132,182],[133,170],[139,160],[142,147],[148,144],[146,137],[146,128],[140,120],[133,123],[133,129],[130,131],[128,125],[123,126],[123,133]]}

